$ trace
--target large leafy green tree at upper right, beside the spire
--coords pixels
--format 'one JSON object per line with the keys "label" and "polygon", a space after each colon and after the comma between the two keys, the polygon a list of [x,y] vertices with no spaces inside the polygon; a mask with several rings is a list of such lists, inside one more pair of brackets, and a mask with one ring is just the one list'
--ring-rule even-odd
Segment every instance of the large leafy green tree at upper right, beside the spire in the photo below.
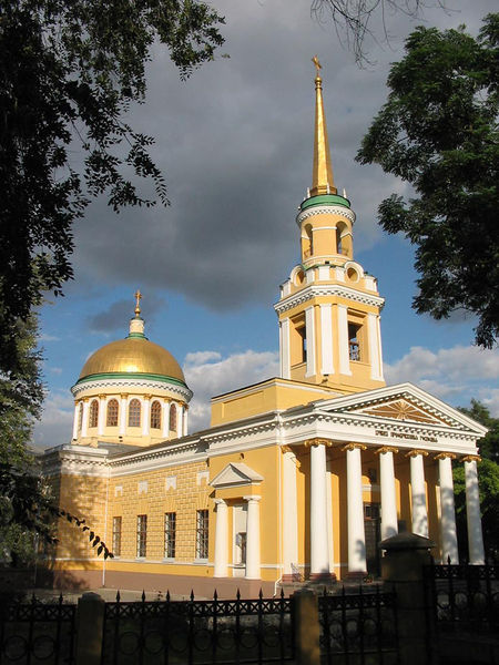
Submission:
{"label": "large leafy green tree at upper right, beside the spire", "polygon": [[408,201],[385,200],[378,216],[416,246],[416,311],[436,319],[470,311],[476,344],[491,347],[499,335],[499,14],[486,17],[477,39],[464,27],[417,28],[405,48],[357,160],[414,188]]}

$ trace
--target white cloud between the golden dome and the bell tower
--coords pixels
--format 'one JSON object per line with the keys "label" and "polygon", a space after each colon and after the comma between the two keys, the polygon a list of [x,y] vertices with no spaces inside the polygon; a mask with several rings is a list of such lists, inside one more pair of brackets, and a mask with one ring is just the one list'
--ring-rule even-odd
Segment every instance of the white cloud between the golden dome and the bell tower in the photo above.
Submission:
{"label": "white cloud between the golden dome and the bell tower", "polygon": [[194,391],[189,413],[191,432],[210,426],[210,398],[278,375],[277,351],[233,354],[223,358],[216,351],[187,354],[184,374]]}

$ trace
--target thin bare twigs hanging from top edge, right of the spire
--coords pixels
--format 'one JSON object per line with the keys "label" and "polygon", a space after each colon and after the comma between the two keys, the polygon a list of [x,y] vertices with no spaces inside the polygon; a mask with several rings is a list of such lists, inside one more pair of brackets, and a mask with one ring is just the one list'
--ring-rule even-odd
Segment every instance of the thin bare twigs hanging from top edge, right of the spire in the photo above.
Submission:
{"label": "thin bare twigs hanging from top edge, right of the spire", "polygon": [[353,51],[356,62],[364,64],[368,62],[366,37],[376,41],[377,31],[370,28],[374,19],[380,19],[381,41],[389,43],[388,17],[401,12],[417,19],[422,17],[425,8],[436,4],[445,9],[440,0],[313,0],[310,11],[319,22],[330,17],[339,40]]}

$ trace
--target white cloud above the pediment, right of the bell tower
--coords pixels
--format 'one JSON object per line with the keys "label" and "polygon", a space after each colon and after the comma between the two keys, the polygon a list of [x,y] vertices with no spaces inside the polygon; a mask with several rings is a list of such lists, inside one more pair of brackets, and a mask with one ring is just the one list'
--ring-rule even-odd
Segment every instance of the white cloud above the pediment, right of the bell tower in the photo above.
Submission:
{"label": "white cloud above the pediment, right of the bell tower", "polygon": [[385,364],[387,383],[410,381],[454,405],[467,406],[475,397],[499,413],[499,349],[455,346],[430,351],[411,347],[400,360]]}

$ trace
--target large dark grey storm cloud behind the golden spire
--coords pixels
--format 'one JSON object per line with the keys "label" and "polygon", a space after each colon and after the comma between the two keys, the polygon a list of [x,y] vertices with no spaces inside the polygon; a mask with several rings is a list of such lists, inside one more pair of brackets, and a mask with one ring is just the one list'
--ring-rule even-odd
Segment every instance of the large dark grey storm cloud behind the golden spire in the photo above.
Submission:
{"label": "large dark grey storm cloud behind the golden spire", "polygon": [[[310,20],[306,1],[293,11],[288,0],[214,4],[227,18],[223,51],[231,58],[182,83],[157,51],[147,104],[131,117],[156,137],[153,153],[172,205],[114,215],[94,204],[77,228],[82,282],[172,289],[212,309],[275,299],[297,259],[294,218],[310,184],[315,52],[324,64],[336,184],[357,214],[357,252],[380,237],[380,201],[403,191],[380,168],[354,161],[385,101],[388,61],[400,53],[378,49],[377,66],[358,69],[334,29]],[[403,16],[393,27],[410,30]],[[102,316],[109,325],[112,317]]]}

